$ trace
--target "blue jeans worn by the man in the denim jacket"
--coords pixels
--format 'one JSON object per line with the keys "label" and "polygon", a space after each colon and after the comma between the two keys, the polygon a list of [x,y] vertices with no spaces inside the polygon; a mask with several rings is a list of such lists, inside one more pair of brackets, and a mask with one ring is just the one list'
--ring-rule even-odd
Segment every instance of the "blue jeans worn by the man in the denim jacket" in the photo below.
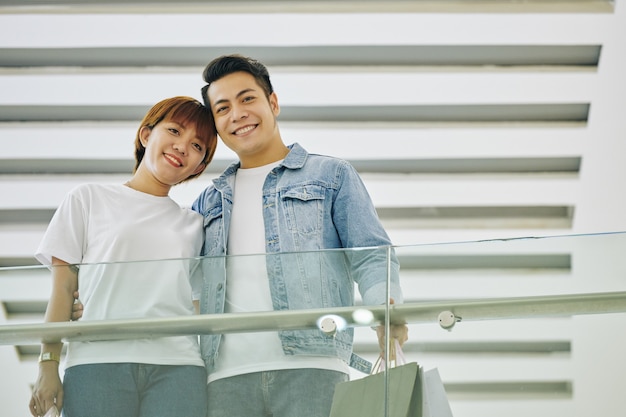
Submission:
{"label": "blue jeans worn by the man in the denim jacket", "polygon": [[328,417],[338,382],[322,369],[255,372],[209,384],[208,417]]}

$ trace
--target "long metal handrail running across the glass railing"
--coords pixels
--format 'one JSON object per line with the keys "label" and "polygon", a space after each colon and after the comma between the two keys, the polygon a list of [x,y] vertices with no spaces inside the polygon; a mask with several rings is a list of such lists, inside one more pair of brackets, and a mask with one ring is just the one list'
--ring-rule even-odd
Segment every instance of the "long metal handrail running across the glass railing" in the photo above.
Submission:
{"label": "long metal handrail running across the glass railing", "polygon": [[[124,340],[189,334],[243,333],[318,328],[320,318],[338,317],[349,327],[390,323],[439,323],[521,319],[626,312],[626,292],[581,293],[515,298],[446,300],[391,306],[201,314],[191,317],[142,318],[0,326],[0,345],[39,342]],[[355,320],[355,311],[369,310],[373,321]],[[450,322],[450,318],[452,319]]]}

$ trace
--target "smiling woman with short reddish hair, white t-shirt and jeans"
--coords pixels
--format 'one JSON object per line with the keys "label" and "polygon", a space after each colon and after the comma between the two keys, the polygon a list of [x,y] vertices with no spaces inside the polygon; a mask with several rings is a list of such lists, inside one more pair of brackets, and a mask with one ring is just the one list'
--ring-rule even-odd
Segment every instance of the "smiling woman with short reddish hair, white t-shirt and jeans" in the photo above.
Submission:
{"label": "smiling woman with short reddish hair, white t-shirt and jeans", "polygon": [[[78,288],[83,321],[194,314],[202,284],[188,258],[200,253],[203,220],[168,195],[204,171],[216,144],[210,110],[190,97],[163,100],[141,122],[125,184],[85,184],[66,196],[35,255],[52,269],[46,322],[70,320]],[[42,344],[33,416],[53,407],[67,417],[206,414],[196,336],[69,343],[63,382],[61,350]]]}

